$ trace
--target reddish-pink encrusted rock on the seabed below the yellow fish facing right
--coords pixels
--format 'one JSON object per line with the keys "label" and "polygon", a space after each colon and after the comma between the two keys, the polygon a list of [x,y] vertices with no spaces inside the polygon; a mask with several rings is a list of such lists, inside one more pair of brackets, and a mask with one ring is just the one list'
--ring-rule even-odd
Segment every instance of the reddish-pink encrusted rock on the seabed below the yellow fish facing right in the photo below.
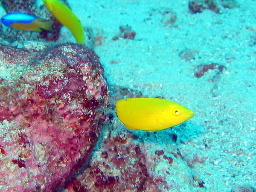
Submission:
{"label": "reddish-pink encrusted rock on the seabed below the yellow fish facing right", "polygon": [[160,192],[135,137],[106,131],[105,138],[84,172],[66,186],[68,192]]}

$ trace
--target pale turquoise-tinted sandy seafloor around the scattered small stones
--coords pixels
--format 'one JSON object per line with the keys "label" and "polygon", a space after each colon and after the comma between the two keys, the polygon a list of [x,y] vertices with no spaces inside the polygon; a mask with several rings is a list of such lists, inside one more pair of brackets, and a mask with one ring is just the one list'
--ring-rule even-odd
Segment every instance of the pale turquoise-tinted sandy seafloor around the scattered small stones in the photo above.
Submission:
{"label": "pale turquoise-tinted sandy seafloor around the scattered small stones", "polygon": [[[221,14],[208,9],[192,14],[188,2],[68,0],[83,26],[103,37],[102,45],[93,49],[104,66],[110,90],[122,86],[148,97],[163,96],[195,112],[173,131],[181,154],[202,162],[195,160],[187,170],[174,167],[177,177],[166,177],[174,183],[172,191],[228,192],[238,185],[256,187],[256,1],[238,0],[239,7],[222,8]],[[161,22],[166,8],[177,14],[173,25]],[[136,32],[134,40],[113,41],[124,25]],[[65,28],[60,35],[58,43],[75,42]],[[180,58],[185,48],[195,59]],[[195,77],[198,65],[211,63],[224,65],[225,70],[220,74],[208,70],[201,78]],[[136,134],[148,154],[168,151],[174,145],[168,136],[171,129],[129,133],[118,119],[114,122],[114,131]],[[165,168],[159,161],[154,174],[161,175]],[[183,172],[194,172],[206,188],[182,180],[180,175],[189,174]],[[183,189],[175,189],[175,183],[183,183]]]}

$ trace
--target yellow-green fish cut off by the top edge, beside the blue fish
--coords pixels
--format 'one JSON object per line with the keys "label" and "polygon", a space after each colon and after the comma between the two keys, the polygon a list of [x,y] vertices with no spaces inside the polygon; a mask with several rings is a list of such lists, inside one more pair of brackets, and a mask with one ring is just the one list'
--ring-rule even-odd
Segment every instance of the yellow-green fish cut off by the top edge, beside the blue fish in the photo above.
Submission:
{"label": "yellow-green fish cut off by the top edge, beside the blue fish", "polygon": [[70,29],[76,41],[83,44],[84,29],[78,17],[58,0],[43,0],[43,2],[49,12],[51,12],[62,25]]}

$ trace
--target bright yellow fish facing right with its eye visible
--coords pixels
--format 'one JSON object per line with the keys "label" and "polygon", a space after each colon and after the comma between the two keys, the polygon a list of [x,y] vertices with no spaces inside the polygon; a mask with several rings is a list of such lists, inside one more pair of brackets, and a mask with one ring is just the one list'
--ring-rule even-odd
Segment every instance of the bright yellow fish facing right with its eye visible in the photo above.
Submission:
{"label": "bright yellow fish facing right with its eye visible", "polygon": [[160,131],[192,118],[194,112],[175,102],[155,98],[122,99],[116,102],[120,121],[131,130]]}

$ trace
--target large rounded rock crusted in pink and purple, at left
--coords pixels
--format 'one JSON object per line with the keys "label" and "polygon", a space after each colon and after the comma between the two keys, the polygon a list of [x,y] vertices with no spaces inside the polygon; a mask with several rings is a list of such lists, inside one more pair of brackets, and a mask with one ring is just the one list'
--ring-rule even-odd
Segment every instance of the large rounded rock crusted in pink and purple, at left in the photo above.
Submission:
{"label": "large rounded rock crusted in pink and purple, at left", "polygon": [[0,79],[0,191],[54,190],[88,160],[106,119],[99,58],[78,44],[0,45],[0,57],[11,72]]}

